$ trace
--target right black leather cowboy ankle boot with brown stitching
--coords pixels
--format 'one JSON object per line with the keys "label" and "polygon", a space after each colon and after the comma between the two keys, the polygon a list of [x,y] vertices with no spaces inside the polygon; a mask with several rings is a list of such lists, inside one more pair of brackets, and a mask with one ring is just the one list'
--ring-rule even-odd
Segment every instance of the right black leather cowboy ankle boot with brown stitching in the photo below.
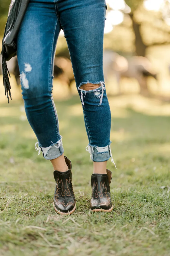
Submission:
{"label": "right black leather cowboy ankle boot with brown stitching", "polygon": [[110,196],[110,183],[112,173],[107,169],[107,174],[91,175],[91,202],[90,208],[92,211],[105,211],[113,210],[111,196]]}

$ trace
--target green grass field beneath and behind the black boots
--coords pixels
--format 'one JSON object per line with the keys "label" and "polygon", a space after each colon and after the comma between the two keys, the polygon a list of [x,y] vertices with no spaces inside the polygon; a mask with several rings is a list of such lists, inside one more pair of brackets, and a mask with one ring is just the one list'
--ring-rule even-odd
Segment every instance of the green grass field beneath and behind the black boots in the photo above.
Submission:
{"label": "green grass field beneath and behind the black boots", "polygon": [[117,166],[108,162],[110,213],[89,211],[93,164],[80,99],[56,102],[73,166],[71,217],[53,209],[53,169],[37,156],[23,102],[0,105],[0,255],[170,255],[170,104],[139,96],[109,101]]}

